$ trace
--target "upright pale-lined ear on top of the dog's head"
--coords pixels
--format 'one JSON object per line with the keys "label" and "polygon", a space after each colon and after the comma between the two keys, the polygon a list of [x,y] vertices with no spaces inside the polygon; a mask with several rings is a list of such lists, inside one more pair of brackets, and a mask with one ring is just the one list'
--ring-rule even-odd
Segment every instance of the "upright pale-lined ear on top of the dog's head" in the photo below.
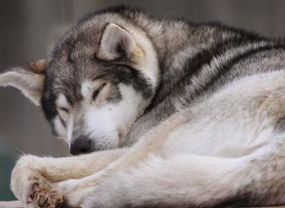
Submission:
{"label": "upright pale-lined ear on top of the dog's head", "polygon": [[139,62],[144,54],[136,44],[133,35],[114,23],[106,24],[96,54],[99,60],[113,61],[127,58],[131,62]]}

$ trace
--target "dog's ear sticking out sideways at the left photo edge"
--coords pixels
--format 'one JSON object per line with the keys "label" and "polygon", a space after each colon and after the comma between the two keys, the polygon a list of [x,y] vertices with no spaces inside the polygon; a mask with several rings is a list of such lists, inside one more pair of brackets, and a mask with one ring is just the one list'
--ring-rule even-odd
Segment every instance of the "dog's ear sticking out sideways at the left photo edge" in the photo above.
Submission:
{"label": "dog's ear sticking out sideways at the left photo edge", "polygon": [[44,88],[44,70],[47,64],[47,60],[38,60],[0,73],[0,86],[16,87],[35,105],[40,105]]}

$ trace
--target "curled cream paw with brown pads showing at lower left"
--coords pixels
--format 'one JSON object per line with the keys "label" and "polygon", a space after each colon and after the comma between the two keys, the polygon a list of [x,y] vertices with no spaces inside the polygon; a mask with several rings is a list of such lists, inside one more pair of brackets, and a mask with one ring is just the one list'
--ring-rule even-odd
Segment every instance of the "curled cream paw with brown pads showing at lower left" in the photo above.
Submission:
{"label": "curled cream paw with brown pads showing at lower left", "polygon": [[36,159],[31,155],[19,159],[12,172],[11,189],[24,207],[60,207],[63,196],[37,171]]}

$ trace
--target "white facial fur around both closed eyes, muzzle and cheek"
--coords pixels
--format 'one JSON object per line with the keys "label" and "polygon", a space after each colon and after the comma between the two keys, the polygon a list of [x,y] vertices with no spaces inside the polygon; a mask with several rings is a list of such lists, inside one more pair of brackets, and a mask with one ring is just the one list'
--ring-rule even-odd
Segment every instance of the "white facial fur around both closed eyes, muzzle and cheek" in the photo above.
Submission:
{"label": "white facial fur around both closed eyes, muzzle and cheek", "polygon": [[[136,120],[149,101],[142,98],[135,89],[124,84],[119,85],[122,101],[119,103],[108,103],[100,99],[92,101],[92,93],[98,88],[97,82],[86,80],[81,85],[81,94],[83,101],[79,105],[80,113],[76,112],[76,107],[70,107],[67,99],[63,94],[58,96],[56,105],[65,107],[69,110],[69,114],[58,108],[60,116],[67,122],[67,130],[63,127],[58,116],[54,119],[54,125],[60,137],[67,138],[67,143],[70,145],[79,134],[88,135],[93,140],[95,148],[117,148],[120,147],[127,132],[131,128],[132,123]],[[101,90],[104,94],[104,89]],[[82,118],[79,118],[82,116]],[[76,132],[78,128],[74,120],[81,119],[83,127],[80,132]]]}

